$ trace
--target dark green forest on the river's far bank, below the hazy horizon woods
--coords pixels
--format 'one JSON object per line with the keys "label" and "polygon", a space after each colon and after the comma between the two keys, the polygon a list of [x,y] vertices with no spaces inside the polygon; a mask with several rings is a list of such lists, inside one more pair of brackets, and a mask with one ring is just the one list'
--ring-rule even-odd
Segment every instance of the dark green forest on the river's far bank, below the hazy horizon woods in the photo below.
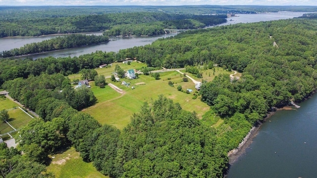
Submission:
{"label": "dark green forest on the river's far bank, below the hazy horizon woods", "polygon": [[[166,29],[175,27],[183,28],[182,23],[178,23],[178,20],[194,19],[201,21],[200,26],[190,27],[199,28],[202,27],[202,23],[205,26],[216,25],[226,22],[225,15],[182,15],[182,14],[169,14],[163,12],[126,12],[126,13],[106,13],[106,14],[90,14],[90,15],[78,15],[70,17],[47,17],[47,18],[27,18],[27,19],[14,19],[3,20],[0,23],[0,38],[3,37],[15,37],[15,36],[41,36],[50,34],[69,34],[69,33],[81,33],[81,32],[98,32],[110,30],[118,25],[131,25],[137,28],[135,25],[143,24],[143,28],[146,31],[158,31],[160,29]],[[177,20],[177,21],[175,21]],[[172,21],[172,22],[170,22]],[[150,29],[145,26],[145,23],[150,22],[165,22],[165,23],[153,23],[155,29]],[[173,26],[168,26],[172,23]],[[153,26],[151,26],[153,27]],[[131,27],[130,27],[131,28]],[[139,27],[138,27],[139,28]],[[163,34],[161,31],[159,34]],[[156,33],[154,33],[155,35]],[[141,33],[141,35],[151,35],[148,33]]]}

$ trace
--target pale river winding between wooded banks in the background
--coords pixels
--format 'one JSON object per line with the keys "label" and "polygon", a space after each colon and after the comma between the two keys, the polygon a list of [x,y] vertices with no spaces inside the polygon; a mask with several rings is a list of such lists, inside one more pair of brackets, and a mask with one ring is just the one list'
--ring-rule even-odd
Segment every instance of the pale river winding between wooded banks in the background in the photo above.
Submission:
{"label": "pale river winding between wooded banks in the background", "polygon": [[[236,24],[236,23],[251,23],[251,22],[260,22],[260,21],[268,21],[268,20],[288,19],[288,18],[302,16],[304,13],[306,12],[283,11],[283,12],[261,13],[261,14],[236,14],[237,17],[227,18],[226,23],[220,24],[218,26],[230,25],[230,24]],[[88,35],[89,34],[102,35],[102,32],[87,33],[87,34]],[[117,52],[120,49],[126,49],[133,46],[149,45],[159,38],[166,38],[166,37],[170,37],[174,35],[176,35],[176,33],[170,33],[166,35],[159,35],[159,36],[152,36],[152,37],[113,37],[113,38],[110,38],[110,41],[106,44],[64,49],[59,51],[46,52],[42,54],[34,54],[34,55],[30,55],[30,57],[32,57],[33,59],[48,57],[48,56],[73,57],[73,56],[79,56],[82,54],[96,52],[96,50],[107,51],[107,52],[109,51]],[[50,36],[42,36],[42,37],[1,38],[0,51],[10,50],[13,48],[19,48],[29,43],[36,43],[36,42],[41,42],[44,40],[49,40],[56,36],[60,36],[60,35],[50,35]],[[22,58],[25,58],[25,57],[22,57]]]}

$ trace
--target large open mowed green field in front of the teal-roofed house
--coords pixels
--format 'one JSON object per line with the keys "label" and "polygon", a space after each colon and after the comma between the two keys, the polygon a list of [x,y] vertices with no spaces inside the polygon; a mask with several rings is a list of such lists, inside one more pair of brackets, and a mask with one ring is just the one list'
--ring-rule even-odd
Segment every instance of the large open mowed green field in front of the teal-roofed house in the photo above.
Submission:
{"label": "large open mowed green field in front of the teal-roofed house", "polygon": [[[131,89],[131,87],[127,88],[122,86],[119,82],[112,82],[107,79],[106,82],[112,83],[124,90],[123,94],[118,93],[120,94],[119,96],[113,93],[114,90],[112,92],[106,92],[107,87],[105,89],[99,89],[98,87],[92,86],[92,90],[96,93],[99,102],[83,110],[83,112],[89,113],[101,124],[109,124],[118,129],[123,129],[130,123],[130,118],[133,113],[140,111],[140,107],[144,102],[147,101],[150,103],[157,99],[159,94],[173,99],[175,103],[180,103],[185,110],[195,111],[200,118],[210,108],[206,103],[201,102],[199,97],[192,99],[194,96],[193,93],[195,93],[196,90],[194,83],[192,81],[183,82],[183,75],[176,71],[160,73],[159,80],[145,75],[139,75],[139,77],[140,78],[136,80],[121,79],[121,81],[131,83],[130,86],[134,86],[135,89]],[[170,87],[168,85],[169,81],[177,84],[174,84],[174,87]],[[183,88],[185,90],[187,88],[193,89],[194,92],[187,94],[186,92],[178,91],[178,85],[184,86]],[[105,100],[104,98],[111,99]]]}

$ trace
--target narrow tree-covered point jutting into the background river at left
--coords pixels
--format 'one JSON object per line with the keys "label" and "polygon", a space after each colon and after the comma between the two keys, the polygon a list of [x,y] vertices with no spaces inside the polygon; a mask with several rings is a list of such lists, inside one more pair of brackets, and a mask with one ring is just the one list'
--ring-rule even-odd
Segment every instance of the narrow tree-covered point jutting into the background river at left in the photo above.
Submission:
{"label": "narrow tree-covered point jutting into the background river at left", "polygon": [[64,37],[56,37],[50,40],[45,40],[43,42],[26,44],[23,47],[14,48],[8,51],[0,51],[0,57],[12,57],[26,54],[48,52],[59,49],[100,44],[108,41],[109,38],[106,36],[72,34]]}

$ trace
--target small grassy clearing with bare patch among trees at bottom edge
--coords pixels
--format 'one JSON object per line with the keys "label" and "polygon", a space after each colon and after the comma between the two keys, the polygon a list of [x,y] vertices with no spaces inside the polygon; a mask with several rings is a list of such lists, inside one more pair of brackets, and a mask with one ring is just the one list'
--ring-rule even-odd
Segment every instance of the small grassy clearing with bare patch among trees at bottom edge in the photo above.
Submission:
{"label": "small grassy clearing with bare patch among trees at bottom edge", "polygon": [[92,163],[86,163],[75,148],[52,155],[47,172],[52,172],[56,178],[109,178],[96,170]]}

